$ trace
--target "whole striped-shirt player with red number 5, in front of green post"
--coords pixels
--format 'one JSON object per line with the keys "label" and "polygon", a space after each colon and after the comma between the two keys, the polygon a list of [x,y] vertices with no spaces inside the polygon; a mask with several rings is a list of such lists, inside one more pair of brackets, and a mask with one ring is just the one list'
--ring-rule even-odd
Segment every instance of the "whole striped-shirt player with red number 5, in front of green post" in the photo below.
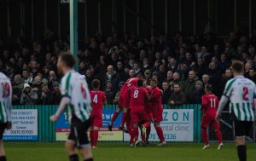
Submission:
{"label": "whole striped-shirt player with red number 5, in front of green post", "polygon": [[68,120],[71,125],[71,132],[66,141],[66,148],[69,159],[79,160],[75,148],[79,148],[83,160],[92,161],[90,143],[87,130],[90,127],[90,92],[85,79],[73,70],[75,59],[73,55],[63,53],[60,55],[57,67],[61,78],[61,103],[55,115],[50,117],[56,121],[61,112],[67,107]]}

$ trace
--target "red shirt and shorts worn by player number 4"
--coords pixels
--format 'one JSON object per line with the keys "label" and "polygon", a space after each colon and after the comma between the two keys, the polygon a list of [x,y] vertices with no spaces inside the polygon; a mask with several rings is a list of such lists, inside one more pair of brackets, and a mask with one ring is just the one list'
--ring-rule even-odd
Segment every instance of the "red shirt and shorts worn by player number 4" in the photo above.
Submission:
{"label": "red shirt and shorts worn by player number 4", "polygon": [[101,90],[90,90],[91,99],[91,114],[90,114],[90,125],[102,127],[102,106],[106,101],[106,95]]}

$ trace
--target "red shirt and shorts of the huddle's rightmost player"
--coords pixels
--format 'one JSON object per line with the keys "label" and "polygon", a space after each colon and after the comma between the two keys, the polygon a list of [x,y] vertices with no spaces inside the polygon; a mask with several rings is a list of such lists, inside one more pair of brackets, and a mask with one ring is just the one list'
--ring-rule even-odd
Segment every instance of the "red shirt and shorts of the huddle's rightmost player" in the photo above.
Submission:
{"label": "red shirt and shorts of the huddle's rightmost player", "polygon": [[150,95],[150,102],[151,102],[154,122],[163,121],[163,106],[161,101],[161,95],[162,95],[162,91],[158,87],[155,87],[154,89],[152,89],[152,92]]}

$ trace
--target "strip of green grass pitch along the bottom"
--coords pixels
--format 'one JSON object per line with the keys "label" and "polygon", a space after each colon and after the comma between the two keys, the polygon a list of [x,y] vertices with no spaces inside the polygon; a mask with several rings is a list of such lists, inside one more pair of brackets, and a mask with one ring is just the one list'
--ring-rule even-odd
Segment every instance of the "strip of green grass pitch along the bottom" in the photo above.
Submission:
{"label": "strip of green grass pitch along the bottom", "polygon": [[[218,144],[212,143],[211,148],[201,150],[203,144],[168,143],[165,147],[157,147],[156,143],[148,147],[131,148],[128,143],[99,143],[92,149],[96,161],[236,161],[234,143],[225,143],[224,148],[217,150]],[[67,160],[64,143],[25,143],[4,142],[9,161],[63,161]],[[256,144],[247,144],[247,160],[254,160]],[[82,159],[80,159],[82,160]]]}

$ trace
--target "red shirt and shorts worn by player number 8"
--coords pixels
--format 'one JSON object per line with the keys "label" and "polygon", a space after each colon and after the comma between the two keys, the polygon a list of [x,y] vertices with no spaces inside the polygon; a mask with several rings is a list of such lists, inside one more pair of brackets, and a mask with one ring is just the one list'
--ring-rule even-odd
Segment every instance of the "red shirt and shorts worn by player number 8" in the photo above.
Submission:
{"label": "red shirt and shorts worn by player number 8", "polygon": [[148,116],[145,111],[146,96],[148,95],[147,89],[143,87],[132,86],[129,89],[130,93],[130,109],[131,109],[131,122],[139,123],[148,121]]}

